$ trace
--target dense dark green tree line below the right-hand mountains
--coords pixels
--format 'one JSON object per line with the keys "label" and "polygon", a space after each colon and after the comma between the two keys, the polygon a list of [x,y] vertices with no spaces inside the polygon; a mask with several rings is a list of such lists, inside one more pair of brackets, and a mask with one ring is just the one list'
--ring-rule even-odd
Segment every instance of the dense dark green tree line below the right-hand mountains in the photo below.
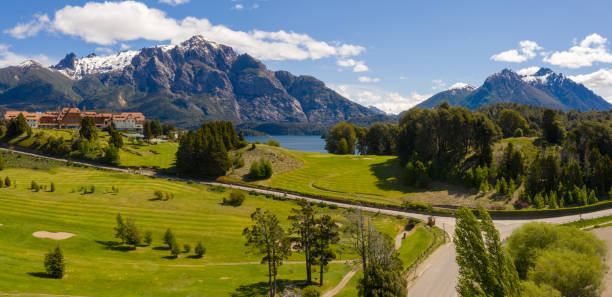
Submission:
{"label": "dense dark green tree line below the right-hand mountains", "polygon": [[[339,123],[327,133],[326,149],[398,156],[403,180],[414,187],[440,180],[484,193],[495,189],[507,199],[524,188],[517,208],[557,208],[596,203],[610,191],[611,119],[610,112],[566,114],[517,104],[472,112],[444,102],[434,109],[410,109],[397,124]],[[501,159],[493,160],[496,142],[524,136],[536,137],[535,158],[509,141]]]}

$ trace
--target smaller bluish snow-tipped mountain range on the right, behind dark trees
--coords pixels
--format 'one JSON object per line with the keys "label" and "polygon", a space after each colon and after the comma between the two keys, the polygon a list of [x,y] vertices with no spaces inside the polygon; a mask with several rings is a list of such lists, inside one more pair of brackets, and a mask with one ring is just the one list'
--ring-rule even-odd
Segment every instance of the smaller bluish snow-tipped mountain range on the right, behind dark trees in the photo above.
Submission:
{"label": "smaller bluish snow-tipped mountain range on the right, behind dark trees", "polygon": [[457,86],[433,95],[417,107],[432,108],[443,101],[472,110],[501,102],[563,111],[612,109],[612,104],[584,85],[548,68],[540,68],[529,74],[518,74],[504,69],[489,76],[478,88],[470,85]]}

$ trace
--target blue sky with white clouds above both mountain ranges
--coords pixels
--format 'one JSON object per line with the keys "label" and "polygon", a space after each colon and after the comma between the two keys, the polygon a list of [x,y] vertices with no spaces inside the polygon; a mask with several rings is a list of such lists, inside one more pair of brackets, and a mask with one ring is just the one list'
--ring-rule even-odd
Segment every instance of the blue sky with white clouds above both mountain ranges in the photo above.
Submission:
{"label": "blue sky with white clouds above both mountain ranges", "polygon": [[[272,70],[312,75],[398,113],[510,68],[551,68],[612,102],[607,1],[4,1],[0,67],[106,55],[201,34]],[[535,67],[535,68],[534,68]]]}

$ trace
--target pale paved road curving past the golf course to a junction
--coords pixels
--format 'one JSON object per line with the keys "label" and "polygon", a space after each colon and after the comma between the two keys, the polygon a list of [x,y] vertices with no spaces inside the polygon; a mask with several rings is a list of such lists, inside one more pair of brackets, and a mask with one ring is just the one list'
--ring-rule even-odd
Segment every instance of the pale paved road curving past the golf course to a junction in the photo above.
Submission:
{"label": "pale paved road curving past the golf course to a junction", "polygon": [[[74,161],[67,160],[63,158],[50,157],[37,153],[26,152],[24,150],[19,149],[11,149],[11,148],[0,148],[0,150],[9,151],[13,153],[30,155],[33,157],[46,158],[51,160],[56,160],[59,162],[72,162],[82,165],[87,165],[91,167],[120,171],[126,173],[136,173],[142,175],[156,175],[163,178],[175,179],[175,180],[194,180],[187,178],[177,178],[174,176],[166,176],[158,174],[155,171],[134,171],[125,168],[113,167],[100,165],[96,163],[82,162],[82,161]],[[316,199],[312,197],[295,195],[295,194],[287,194],[282,191],[271,190],[271,189],[260,189],[248,186],[234,185],[234,184],[226,184],[214,181],[203,181],[203,180],[194,180],[202,184],[213,185],[213,186],[223,186],[231,189],[239,189],[244,191],[255,191],[260,194],[271,194],[279,197],[284,197],[288,199],[306,199],[307,201],[315,202],[315,203],[325,203],[328,205],[336,205],[342,208],[353,208],[360,209],[367,212],[373,213],[381,213],[390,216],[403,216],[403,217],[413,217],[420,220],[427,220],[429,215],[424,215],[420,213],[412,213],[408,211],[396,211],[396,210],[388,210],[388,209],[380,209],[369,206],[361,206],[361,205],[353,205],[348,203],[341,202],[333,202],[322,199]],[[553,224],[562,224],[572,221],[578,221],[582,219],[588,218],[596,218],[601,216],[612,215],[612,209],[601,210],[596,212],[591,212],[588,214],[582,215],[568,215],[562,217],[555,218],[543,218],[543,219],[530,219],[530,220],[508,220],[508,219],[498,219],[494,220],[495,227],[499,230],[500,236],[502,240],[510,236],[512,231],[521,225],[528,222],[547,222]],[[453,234],[455,229],[455,218],[453,217],[436,217],[436,225],[440,228],[443,228],[449,234]],[[454,297],[457,296],[457,292],[455,287],[457,285],[457,275],[458,275],[458,266],[455,262],[455,246],[452,243],[445,244],[438,248],[427,260],[425,260],[415,271],[415,279],[409,283],[409,297],[422,297],[422,296],[431,296],[431,297]]]}

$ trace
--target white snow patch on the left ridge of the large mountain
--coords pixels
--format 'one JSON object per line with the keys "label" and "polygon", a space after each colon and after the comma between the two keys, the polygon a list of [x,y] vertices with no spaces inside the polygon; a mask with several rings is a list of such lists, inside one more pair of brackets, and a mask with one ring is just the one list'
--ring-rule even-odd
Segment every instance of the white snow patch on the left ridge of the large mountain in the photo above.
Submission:
{"label": "white snow patch on the left ridge of the large mountain", "polygon": [[122,51],[107,56],[89,55],[77,59],[74,63],[74,69],[64,68],[57,71],[71,79],[79,80],[89,74],[121,70],[130,65],[132,59],[134,59],[138,53],[139,51]]}

